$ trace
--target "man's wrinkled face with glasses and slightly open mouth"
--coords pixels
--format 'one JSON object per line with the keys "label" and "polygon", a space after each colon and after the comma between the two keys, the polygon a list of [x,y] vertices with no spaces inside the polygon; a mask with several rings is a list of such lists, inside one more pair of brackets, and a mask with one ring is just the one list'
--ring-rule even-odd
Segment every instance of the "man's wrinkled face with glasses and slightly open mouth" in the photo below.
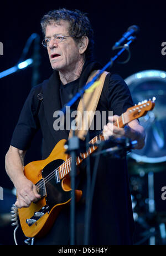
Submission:
{"label": "man's wrinkled face with glasses and slightly open mouth", "polygon": [[69,23],[61,20],[58,24],[46,26],[45,38],[51,38],[47,47],[49,59],[53,70],[73,71],[80,60],[79,46],[72,37],[66,37],[63,42],[53,40],[55,35],[69,36]]}

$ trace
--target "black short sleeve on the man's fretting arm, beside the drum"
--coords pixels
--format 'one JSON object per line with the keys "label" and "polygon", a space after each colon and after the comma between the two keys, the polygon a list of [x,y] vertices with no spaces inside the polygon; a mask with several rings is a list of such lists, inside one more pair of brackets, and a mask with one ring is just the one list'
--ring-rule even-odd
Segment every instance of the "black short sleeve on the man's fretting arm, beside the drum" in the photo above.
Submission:
{"label": "black short sleeve on the man's fretting arm, beside the drum", "polygon": [[129,107],[133,106],[133,100],[126,82],[121,76],[111,73],[108,84],[109,109],[113,115],[122,115]]}

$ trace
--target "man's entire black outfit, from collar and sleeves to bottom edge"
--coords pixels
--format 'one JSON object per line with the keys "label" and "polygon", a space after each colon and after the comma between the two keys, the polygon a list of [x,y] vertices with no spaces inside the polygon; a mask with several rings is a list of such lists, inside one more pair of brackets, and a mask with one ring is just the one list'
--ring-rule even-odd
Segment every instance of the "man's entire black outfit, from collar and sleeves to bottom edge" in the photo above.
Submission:
{"label": "man's entire black outfit, from collar and sleeves to bottom edge", "polygon": [[[15,127],[11,145],[21,150],[27,150],[33,136],[41,128],[44,159],[49,156],[58,141],[68,139],[69,131],[53,129],[53,113],[58,110],[58,107],[61,109],[69,102],[71,95],[75,95],[80,90],[80,85],[85,84],[87,76],[94,69],[96,70],[93,65],[90,69],[88,65],[78,80],[65,86],[57,83],[59,78],[56,73],[51,80],[46,80],[41,85],[32,88]],[[83,76],[85,73],[86,76]],[[55,82],[55,80],[57,81]],[[77,109],[78,104],[79,100],[75,103],[74,110]],[[108,74],[97,110],[112,110],[113,115],[121,115],[131,106],[133,106],[133,102],[126,83],[119,75]],[[90,136],[93,137],[95,133],[96,131],[91,131]],[[95,159],[92,158],[92,170],[94,161]],[[83,191],[83,195],[81,201],[76,204],[76,244],[84,243],[86,172],[82,172],[80,175],[78,189]],[[90,244],[132,244],[133,215],[126,160],[101,156],[96,176],[90,225]],[[40,239],[37,244],[68,244],[69,234],[70,209],[65,208],[59,214],[49,234]]]}

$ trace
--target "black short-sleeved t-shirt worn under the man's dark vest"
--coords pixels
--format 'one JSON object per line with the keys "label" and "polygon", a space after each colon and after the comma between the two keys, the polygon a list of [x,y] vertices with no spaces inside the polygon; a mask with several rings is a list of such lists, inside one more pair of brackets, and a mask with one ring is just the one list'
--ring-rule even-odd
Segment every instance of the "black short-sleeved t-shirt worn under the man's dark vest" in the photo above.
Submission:
{"label": "black short-sleeved t-shirt worn under the man's dark vest", "polygon": [[[107,75],[106,80],[108,80],[108,83],[106,82],[103,87],[96,110],[110,110],[113,111],[113,115],[120,116],[129,107],[133,106],[128,86],[119,75],[114,73]],[[67,104],[71,100],[71,97],[73,97],[78,91],[79,79],[66,85],[60,85],[59,96],[61,107]],[[44,140],[47,142],[47,148],[46,150],[43,150],[43,158],[45,158],[50,154],[51,150],[54,148],[54,145],[56,145],[56,143],[59,141],[59,136],[57,140],[55,140],[55,138],[53,140],[50,132],[46,131],[46,129],[49,130],[49,127],[46,124],[47,121],[45,120],[46,114],[44,112],[43,99],[40,99],[39,97],[39,95],[42,94],[41,92],[43,92],[42,84],[32,88],[30,91],[23,106],[22,112],[20,113],[18,123],[15,126],[11,145],[20,150],[28,150],[35,133],[42,128]],[[76,110],[78,104],[79,100],[77,100],[75,104],[71,106],[71,110]],[[67,131],[67,134],[69,134],[69,131]],[[91,136],[94,135],[95,133],[92,133]],[[67,139],[66,134],[64,134],[64,138],[61,139]]]}

